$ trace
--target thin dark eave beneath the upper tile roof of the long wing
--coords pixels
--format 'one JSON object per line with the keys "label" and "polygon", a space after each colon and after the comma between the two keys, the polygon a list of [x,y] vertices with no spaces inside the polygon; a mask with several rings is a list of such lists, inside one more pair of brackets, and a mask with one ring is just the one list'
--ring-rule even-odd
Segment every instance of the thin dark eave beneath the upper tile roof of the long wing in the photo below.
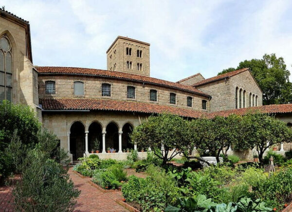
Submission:
{"label": "thin dark eave beneath the upper tile roof of the long wing", "polygon": [[145,82],[145,81],[142,81],[142,80],[134,80],[134,79],[128,79],[128,78],[125,78],[125,77],[115,77],[115,76],[109,76],[109,75],[103,75],[103,74],[95,75],[95,74],[84,74],[84,73],[59,73],[59,72],[43,73],[43,72],[38,72],[38,75],[82,75],[82,76],[94,76],[94,77],[111,78],[111,79],[123,79],[123,80],[130,81],[130,82],[146,83],[146,84],[149,84],[149,85],[156,85],[156,86],[160,86],[160,87],[164,87],[164,88],[174,88],[174,89],[177,89],[177,90],[182,90],[182,91],[186,91],[186,92],[189,92],[189,93],[194,93],[194,94],[197,94],[197,95],[200,95],[200,96],[204,96],[204,97],[207,97],[207,98],[211,98],[211,96],[208,95],[208,94],[199,93],[199,92],[196,92],[196,91],[191,91],[191,90],[187,90],[187,89],[183,89],[183,88],[177,88],[177,87],[162,85],[162,84],[158,84],[158,83],[151,83],[151,82]]}

